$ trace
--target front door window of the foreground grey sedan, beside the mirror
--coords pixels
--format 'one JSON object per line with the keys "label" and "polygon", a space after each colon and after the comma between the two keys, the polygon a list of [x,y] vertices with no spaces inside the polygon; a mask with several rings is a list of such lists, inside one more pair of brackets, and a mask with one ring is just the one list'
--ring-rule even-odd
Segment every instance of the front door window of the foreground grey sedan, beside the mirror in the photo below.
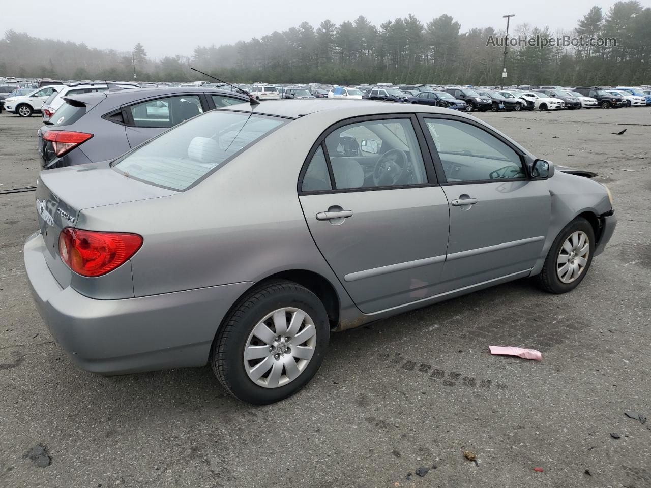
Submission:
{"label": "front door window of the foreground grey sedan, beside the mirror", "polygon": [[527,178],[518,153],[487,131],[456,120],[426,123],[449,183]]}

